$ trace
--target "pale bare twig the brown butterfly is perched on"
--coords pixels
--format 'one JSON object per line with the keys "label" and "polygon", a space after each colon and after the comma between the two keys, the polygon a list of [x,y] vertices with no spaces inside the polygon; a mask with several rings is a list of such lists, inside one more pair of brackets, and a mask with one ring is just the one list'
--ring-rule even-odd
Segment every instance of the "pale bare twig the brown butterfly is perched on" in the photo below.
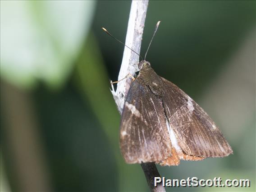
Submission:
{"label": "pale bare twig the brown butterfly is perched on", "polygon": [[[131,11],[128,21],[128,28],[126,33],[125,45],[132,50],[140,54],[142,44],[142,34],[144,29],[144,23],[146,19],[146,10],[148,6],[148,0],[133,0],[131,5]],[[123,79],[128,74],[134,76],[138,71],[139,55],[134,53],[127,47],[123,51],[123,60],[119,71],[118,80]],[[131,84],[131,78],[119,81],[117,83],[117,90],[114,91],[112,85],[112,94],[114,96],[115,103],[118,107],[119,113],[123,112],[123,105],[125,95],[127,94]],[[142,163],[142,169],[145,173],[148,186],[151,192],[165,192],[165,188],[162,185],[154,187],[154,177],[160,177],[154,163]]]}

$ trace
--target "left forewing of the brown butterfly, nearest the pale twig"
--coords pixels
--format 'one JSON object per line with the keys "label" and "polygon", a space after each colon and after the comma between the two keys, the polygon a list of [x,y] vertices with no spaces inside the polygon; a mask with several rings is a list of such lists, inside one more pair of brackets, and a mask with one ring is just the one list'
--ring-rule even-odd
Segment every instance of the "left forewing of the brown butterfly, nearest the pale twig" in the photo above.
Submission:
{"label": "left forewing of the brown butterfly, nearest the pale twig", "polygon": [[[123,158],[129,164],[160,163],[171,156],[172,144],[161,98],[155,96],[140,78],[136,78],[129,88],[119,137]],[[168,165],[176,165],[173,160]]]}

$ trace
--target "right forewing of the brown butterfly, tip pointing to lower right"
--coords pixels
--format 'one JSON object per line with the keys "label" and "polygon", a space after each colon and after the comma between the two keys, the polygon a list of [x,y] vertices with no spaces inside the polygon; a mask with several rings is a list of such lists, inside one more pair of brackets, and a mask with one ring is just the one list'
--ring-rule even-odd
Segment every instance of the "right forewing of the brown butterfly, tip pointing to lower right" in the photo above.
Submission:
{"label": "right forewing of the brown butterfly, tip pointing to lower right", "polygon": [[187,155],[224,157],[233,153],[229,143],[206,112],[172,82],[162,78],[163,105],[179,146]]}

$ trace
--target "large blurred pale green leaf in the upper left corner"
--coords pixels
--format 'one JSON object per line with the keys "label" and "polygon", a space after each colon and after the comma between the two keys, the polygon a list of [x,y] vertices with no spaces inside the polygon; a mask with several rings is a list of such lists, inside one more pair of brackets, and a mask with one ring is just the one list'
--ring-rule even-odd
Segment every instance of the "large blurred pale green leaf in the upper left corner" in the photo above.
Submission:
{"label": "large blurred pale green leaf in the upper left corner", "polygon": [[95,1],[1,1],[1,77],[18,87],[64,84],[90,28]]}

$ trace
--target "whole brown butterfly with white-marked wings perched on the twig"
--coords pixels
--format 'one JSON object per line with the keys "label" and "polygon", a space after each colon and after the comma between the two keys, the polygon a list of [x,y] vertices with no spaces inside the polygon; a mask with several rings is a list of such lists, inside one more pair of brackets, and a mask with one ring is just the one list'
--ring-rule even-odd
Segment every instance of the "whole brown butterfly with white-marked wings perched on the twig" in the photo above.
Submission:
{"label": "whole brown butterfly with white-marked wings perched on the twig", "polygon": [[138,69],[124,102],[119,130],[126,163],[179,165],[180,160],[233,153],[214,121],[190,96],[155,73],[145,59]]}

